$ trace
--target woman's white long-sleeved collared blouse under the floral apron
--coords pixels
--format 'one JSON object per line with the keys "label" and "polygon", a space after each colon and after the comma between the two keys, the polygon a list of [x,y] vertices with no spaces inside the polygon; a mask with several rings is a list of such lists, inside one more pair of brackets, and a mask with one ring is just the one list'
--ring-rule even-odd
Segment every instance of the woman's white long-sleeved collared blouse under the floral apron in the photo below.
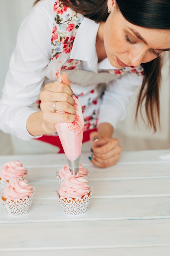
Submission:
{"label": "woman's white long-sleeved collared blouse under the floral apron", "polygon": [[[22,22],[2,89],[0,129],[24,140],[36,138],[26,130],[26,121],[33,112],[40,110],[35,102],[51,59],[54,3],[55,0],[41,0]],[[95,73],[115,69],[108,58],[98,63],[95,50],[98,27],[94,21],[83,19],[70,56],[82,61],[82,70]],[[126,105],[141,83],[142,76],[130,73],[109,82],[100,106],[98,124],[108,122],[115,128],[117,122],[124,119]]]}

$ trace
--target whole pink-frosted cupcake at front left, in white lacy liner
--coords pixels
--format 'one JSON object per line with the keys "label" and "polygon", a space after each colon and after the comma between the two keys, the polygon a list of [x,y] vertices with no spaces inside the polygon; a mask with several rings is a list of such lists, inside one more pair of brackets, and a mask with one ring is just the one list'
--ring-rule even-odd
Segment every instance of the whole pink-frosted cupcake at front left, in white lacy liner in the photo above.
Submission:
{"label": "whole pink-frosted cupcake at front left, in white lacy liner", "polygon": [[30,211],[33,193],[34,187],[29,185],[27,180],[14,178],[4,187],[0,200],[7,213],[21,215]]}

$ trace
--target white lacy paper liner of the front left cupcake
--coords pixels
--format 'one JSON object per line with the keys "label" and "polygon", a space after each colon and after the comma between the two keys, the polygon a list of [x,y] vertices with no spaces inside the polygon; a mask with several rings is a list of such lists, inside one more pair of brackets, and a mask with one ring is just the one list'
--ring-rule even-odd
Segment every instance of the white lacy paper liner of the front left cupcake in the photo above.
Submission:
{"label": "white lacy paper liner of the front left cupcake", "polygon": [[9,200],[6,201],[2,200],[2,190],[0,192],[0,201],[3,204],[5,210],[9,215],[18,216],[25,213],[28,213],[31,209],[31,204],[33,200],[34,195],[34,187],[33,187],[33,193],[31,193],[29,196],[25,196],[22,199],[15,199],[15,200]]}

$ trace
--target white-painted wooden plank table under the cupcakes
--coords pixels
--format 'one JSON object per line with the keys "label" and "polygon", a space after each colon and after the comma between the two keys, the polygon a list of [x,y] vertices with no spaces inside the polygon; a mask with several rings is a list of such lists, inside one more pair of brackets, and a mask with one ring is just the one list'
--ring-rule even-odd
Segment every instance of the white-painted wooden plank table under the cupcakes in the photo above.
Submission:
{"label": "white-painted wooden plank table under the cupcakes", "polygon": [[123,152],[116,166],[90,171],[87,213],[67,216],[55,189],[59,155],[0,156],[0,166],[20,160],[35,186],[31,211],[8,216],[0,205],[0,256],[170,256],[170,150]]}

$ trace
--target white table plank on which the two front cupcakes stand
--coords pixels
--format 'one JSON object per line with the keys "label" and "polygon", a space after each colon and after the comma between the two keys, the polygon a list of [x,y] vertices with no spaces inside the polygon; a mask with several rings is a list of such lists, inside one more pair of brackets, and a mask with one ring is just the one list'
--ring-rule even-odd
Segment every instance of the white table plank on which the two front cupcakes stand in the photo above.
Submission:
{"label": "white table plank on which the two front cupcakes stand", "polygon": [[87,213],[67,216],[56,200],[33,200],[31,211],[22,216],[9,217],[0,207],[0,225],[5,223],[60,222],[86,220],[140,220],[170,218],[170,198],[106,198],[91,199]]}

